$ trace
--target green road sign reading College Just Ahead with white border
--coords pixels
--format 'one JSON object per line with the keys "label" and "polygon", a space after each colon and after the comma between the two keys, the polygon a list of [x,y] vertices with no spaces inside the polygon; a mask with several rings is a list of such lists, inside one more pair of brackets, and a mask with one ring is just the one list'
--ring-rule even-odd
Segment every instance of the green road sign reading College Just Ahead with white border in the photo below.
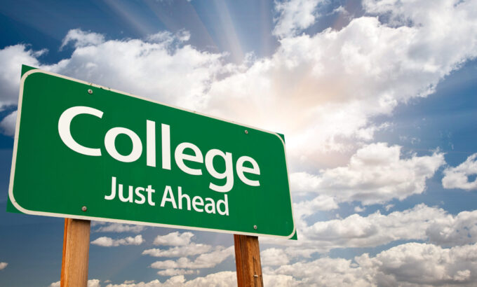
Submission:
{"label": "green road sign reading College Just Ahead with white border", "polygon": [[9,199],[25,214],[290,238],[273,132],[32,69]]}

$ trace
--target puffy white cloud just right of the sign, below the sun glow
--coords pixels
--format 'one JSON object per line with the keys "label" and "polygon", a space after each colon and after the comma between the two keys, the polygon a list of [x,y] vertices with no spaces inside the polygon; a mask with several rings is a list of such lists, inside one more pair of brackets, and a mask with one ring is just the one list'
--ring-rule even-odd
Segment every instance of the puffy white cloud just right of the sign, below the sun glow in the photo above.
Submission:
{"label": "puffy white cloud just right of the sign, below the sun glow", "polygon": [[444,163],[443,153],[401,159],[400,146],[368,144],[351,156],[346,167],[323,169],[319,176],[293,174],[291,181],[298,193],[327,195],[336,202],[382,204],[424,192],[426,179]]}

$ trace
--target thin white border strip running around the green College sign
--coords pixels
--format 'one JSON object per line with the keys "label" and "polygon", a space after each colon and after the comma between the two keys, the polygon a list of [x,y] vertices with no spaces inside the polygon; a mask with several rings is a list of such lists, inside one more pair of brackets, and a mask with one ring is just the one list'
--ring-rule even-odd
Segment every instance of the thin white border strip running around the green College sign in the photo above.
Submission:
{"label": "thin white border strip running around the green College sign", "polygon": [[[242,127],[248,127],[248,128],[254,129],[254,130],[260,130],[261,132],[267,132],[269,134],[276,135],[276,137],[278,137],[278,139],[280,139],[281,143],[283,144],[283,152],[285,153],[285,166],[286,166],[286,172],[287,172],[287,177],[288,177],[288,192],[290,193],[290,203],[291,203],[291,209],[292,209],[293,232],[288,236],[267,235],[267,234],[262,234],[262,233],[250,233],[250,232],[241,232],[241,231],[234,231],[234,230],[220,230],[220,229],[213,229],[213,228],[195,228],[195,227],[192,227],[192,226],[169,225],[169,224],[164,224],[164,223],[148,223],[148,222],[143,222],[143,221],[126,221],[126,220],[114,219],[114,218],[100,218],[100,217],[93,217],[93,216],[76,216],[76,215],[72,215],[72,214],[56,214],[56,213],[53,213],[53,212],[32,211],[32,210],[28,210],[28,209],[24,209],[23,207],[20,207],[20,204],[18,204],[18,202],[15,201],[15,197],[13,197],[13,182],[14,182],[14,176],[15,176],[15,163],[16,163],[16,160],[17,160],[18,133],[19,133],[19,129],[20,129],[20,119],[21,119],[21,114],[22,114],[23,86],[25,84],[25,80],[26,80],[27,76],[31,75],[32,73],[46,73],[50,76],[55,76],[55,77],[58,77],[58,78],[64,78],[66,80],[72,80],[76,83],[82,83],[82,84],[85,84],[85,85],[90,85],[91,87],[98,87],[100,89],[109,90],[111,92],[116,92],[118,94],[124,94],[124,95],[129,96],[129,97],[135,97],[137,99],[142,99],[142,100],[145,100],[147,102],[153,102],[155,104],[161,104],[163,106],[168,106],[168,107],[173,108],[173,109],[187,111],[187,112],[190,112],[190,113],[196,113],[200,116],[206,116],[208,118],[213,118],[215,120],[222,120],[224,122],[232,123],[234,125],[241,125]],[[276,238],[281,238],[281,239],[290,239],[291,237],[293,237],[293,235],[295,235],[295,232],[296,232],[295,217],[293,216],[293,200],[292,200],[292,193],[291,193],[291,190],[290,190],[290,176],[288,175],[288,161],[287,161],[287,158],[286,158],[285,142],[283,141],[283,139],[278,134],[276,134],[276,132],[269,132],[267,130],[262,130],[262,129],[259,129],[257,127],[252,127],[252,126],[249,126],[249,125],[242,125],[242,124],[239,124],[239,123],[234,123],[230,120],[224,120],[222,118],[217,118],[217,117],[214,117],[214,116],[208,116],[208,115],[205,115],[203,113],[196,112],[196,111],[190,111],[188,109],[178,108],[177,106],[171,106],[171,105],[168,105],[168,104],[163,104],[161,102],[157,102],[157,101],[154,101],[152,99],[146,99],[144,97],[136,96],[135,94],[129,94],[127,92],[121,92],[121,91],[118,91],[118,90],[111,89],[109,87],[103,87],[101,85],[88,83],[88,82],[83,81],[83,80],[77,80],[75,78],[62,76],[62,75],[59,75],[58,73],[51,73],[49,71],[43,71],[43,70],[40,70],[40,69],[32,69],[32,70],[27,71],[26,73],[23,74],[23,76],[20,80],[20,95],[18,96],[17,123],[15,125],[15,141],[14,141],[14,144],[13,144],[13,159],[12,159],[12,167],[11,167],[11,174],[10,174],[10,186],[8,188],[8,197],[10,198],[10,201],[13,204],[13,206],[15,206],[15,208],[18,209],[19,211],[22,211],[22,213],[38,215],[38,216],[53,216],[53,217],[75,218],[75,219],[83,219],[83,220],[107,221],[107,222],[112,222],[112,223],[126,223],[126,224],[136,224],[136,225],[157,226],[157,227],[163,227],[163,228],[178,228],[178,229],[187,229],[187,230],[210,231],[210,232],[229,233],[229,234],[236,234],[236,235],[251,235],[251,236],[257,236],[257,237],[258,236],[267,236],[267,237],[276,237]]]}

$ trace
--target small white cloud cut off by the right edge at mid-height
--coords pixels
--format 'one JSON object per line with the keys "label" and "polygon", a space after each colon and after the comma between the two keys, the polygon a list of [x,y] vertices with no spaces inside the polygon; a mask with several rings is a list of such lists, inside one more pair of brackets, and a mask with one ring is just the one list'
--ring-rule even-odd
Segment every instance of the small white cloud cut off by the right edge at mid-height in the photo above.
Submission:
{"label": "small white cloud cut off by the right edge at mid-height", "polygon": [[465,162],[462,162],[457,167],[444,169],[442,185],[444,188],[477,190],[477,179],[469,181],[469,176],[474,174],[477,174],[477,153],[469,156]]}

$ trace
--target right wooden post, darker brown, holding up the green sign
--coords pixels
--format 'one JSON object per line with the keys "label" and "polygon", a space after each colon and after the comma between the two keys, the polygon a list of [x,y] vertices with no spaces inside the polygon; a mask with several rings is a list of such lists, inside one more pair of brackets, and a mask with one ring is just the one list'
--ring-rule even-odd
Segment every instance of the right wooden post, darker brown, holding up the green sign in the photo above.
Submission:
{"label": "right wooden post, darker brown, holding up the green sign", "polygon": [[234,235],[238,287],[263,287],[258,237]]}

